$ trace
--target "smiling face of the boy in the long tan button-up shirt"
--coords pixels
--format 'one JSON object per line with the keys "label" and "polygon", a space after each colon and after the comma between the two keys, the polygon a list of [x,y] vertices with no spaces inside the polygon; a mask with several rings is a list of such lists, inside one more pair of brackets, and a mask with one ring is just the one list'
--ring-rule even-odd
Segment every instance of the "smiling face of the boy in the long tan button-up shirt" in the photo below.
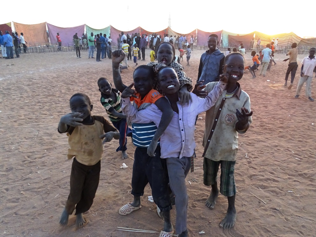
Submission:
{"label": "smiling face of the boy in the long tan button-up shirt", "polygon": [[[245,59],[241,54],[237,53],[229,56],[227,61],[224,63],[227,64],[226,73],[228,73],[228,84],[236,84],[245,71]],[[223,66],[224,68],[224,66]]]}

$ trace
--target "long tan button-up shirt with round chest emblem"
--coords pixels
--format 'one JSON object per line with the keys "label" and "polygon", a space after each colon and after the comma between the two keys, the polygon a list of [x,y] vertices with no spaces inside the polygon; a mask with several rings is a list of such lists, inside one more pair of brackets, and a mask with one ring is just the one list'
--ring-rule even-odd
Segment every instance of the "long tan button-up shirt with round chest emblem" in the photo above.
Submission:
{"label": "long tan button-up shirt with round chest emblem", "polygon": [[[203,90],[211,91],[217,83],[210,82]],[[238,133],[245,133],[252,122],[252,118],[249,117],[248,127],[243,131],[236,131],[236,109],[241,111],[242,107],[246,107],[250,111],[249,95],[241,90],[239,83],[237,86],[233,96],[226,97],[227,91],[224,90],[215,106],[206,111],[203,156],[213,161],[235,161]]]}

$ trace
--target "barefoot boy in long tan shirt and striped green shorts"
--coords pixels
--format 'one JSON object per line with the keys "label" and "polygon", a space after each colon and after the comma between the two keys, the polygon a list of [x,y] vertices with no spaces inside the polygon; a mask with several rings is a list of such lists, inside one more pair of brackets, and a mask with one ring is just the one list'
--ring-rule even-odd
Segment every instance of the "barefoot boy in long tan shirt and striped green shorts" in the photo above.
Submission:
{"label": "barefoot boy in long tan shirt and striped green shorts", "polygon": [[[225,58],[224,71],[228,77],[226,90],[215,106],[206,111],[204,131],[204,185],[212,186],[210,197],[205,205],[214,209],[220,191],[228,198],[228,210],[220,223],[224,229],[233,228],[236,222],[234,167],[238,151],[238,133],[245,133],[252,122],[250,99],[241,90],[238,81],[244,74],[245,59],[240,53],[231,53]],[[226,69],[226,70],[225,70]],[[217,82],[206,85],[204,90],[211,91]],[[241,108],[241,112],[239,109]],[[233,111],[237,111],[236,114]],[[217,172],[221,164],[220,190],[217,187]]]}

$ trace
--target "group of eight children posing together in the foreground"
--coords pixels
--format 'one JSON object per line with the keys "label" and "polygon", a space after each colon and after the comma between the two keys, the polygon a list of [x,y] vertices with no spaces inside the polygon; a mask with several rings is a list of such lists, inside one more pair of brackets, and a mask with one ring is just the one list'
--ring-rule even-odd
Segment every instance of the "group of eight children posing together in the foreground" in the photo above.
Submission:
{"label": "group of eight children posing together in the foreground", "polygon": [[[212,189],[205,205],[214,209],[219,192],[228,197],[228,210],[220,227],[234,227],[237,216],[234,206],[237,134],[247,131],[252,112],[249,96],[238,83],[244,74],[245,59],[240,53],[230,53],[225,57],[216,48],[218,43],[218,36],[210,35],[209,50],[201,57],[200,80],[193,93],[190,93],[191,78],[186,76],[182,65],[174,61],[172,44],[161,43],[157,47],[157,63],[151,60],[148,65],[137,67],[129,86],[123,83],[119,70],[126,55],[122,50],[114,51],[112,70],[116,89],[104,77],[98,80],[98,87],[101,104],[119,133],[103,117],[91,116],[93,106],[88,96],[77,93],[70,98],[71,113],[61,117],[58,125],[58,131],[67,132],[69,136],[68,158],[75,157],[70,175],[70,195],[60,218],[61,224],[67,224],[68,216],[75,208],[76,225],[80,227],[85,223],[82,213],[91,207],[99,182],[103,152],[101,139],[104,138],[104,142],[119,139],[117,151],[122,151],[122,158],[126,159],[126,137],[132,136],[136,146],[131,180],[134,200],[122,206],[119,214],[128,215],[142,207],[140,197],[149,183],[157,213],[164,218],[160,236],[171,237],[174,232],[179,237],[188,236],[185,178],[196,147],[196,117],[206,111],[204,184]],[[137,45],[135,48],[137,50]],[[211,83],[204,88],[205,79]],[[132,122],[131,130],[126,119]],[[218,190],[220,164],[222,174]],[[170,217],[174,203],[177,214],[175,229]]]}

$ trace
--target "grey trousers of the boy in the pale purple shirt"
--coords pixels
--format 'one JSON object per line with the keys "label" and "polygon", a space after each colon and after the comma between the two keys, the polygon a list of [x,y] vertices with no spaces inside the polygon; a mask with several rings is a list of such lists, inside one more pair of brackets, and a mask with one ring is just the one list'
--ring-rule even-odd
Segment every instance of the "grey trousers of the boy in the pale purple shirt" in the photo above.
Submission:
{"label": "grey trousers of the boy in the pale purple shirt", "polygon": [[167,158],[169,185],[175,196],[176,204],[176,234],[181,234],[186,228],[188,210],[188,194],[186,192],[185,178],[191,167],[191,157]]}

